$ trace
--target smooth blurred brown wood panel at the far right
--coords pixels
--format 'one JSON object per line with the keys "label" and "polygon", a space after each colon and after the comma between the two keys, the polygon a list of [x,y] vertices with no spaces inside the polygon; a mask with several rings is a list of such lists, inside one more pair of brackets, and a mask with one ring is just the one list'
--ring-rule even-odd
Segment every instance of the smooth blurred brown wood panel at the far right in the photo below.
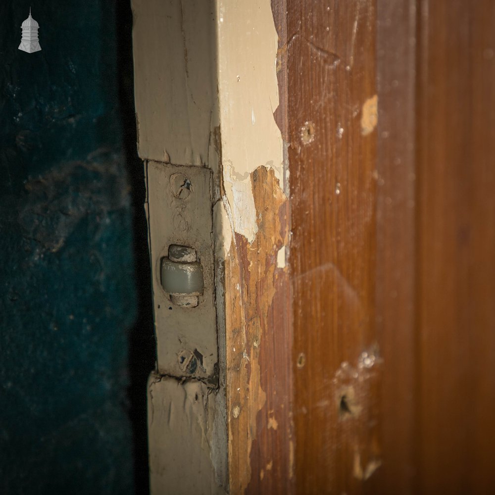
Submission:
{"label": "smooth blurred brown wood panel at the far right", "polygon": [[495,3],[424,1],[418,493],[495,486]]}

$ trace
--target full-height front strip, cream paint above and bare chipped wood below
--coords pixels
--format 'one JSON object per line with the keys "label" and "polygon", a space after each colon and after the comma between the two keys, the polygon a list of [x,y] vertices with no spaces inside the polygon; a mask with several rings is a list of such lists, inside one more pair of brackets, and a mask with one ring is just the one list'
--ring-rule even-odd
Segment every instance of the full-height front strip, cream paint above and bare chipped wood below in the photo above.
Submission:
{"label": "full-height front strip, cream paint above and bare chipped wood below", "polygon": [[[231,494],[292,479],[289,244],[270,2],[217,1]],[[281,19],[283,22],[283,17]],[[227,230],[227,229],[222,229]]]}

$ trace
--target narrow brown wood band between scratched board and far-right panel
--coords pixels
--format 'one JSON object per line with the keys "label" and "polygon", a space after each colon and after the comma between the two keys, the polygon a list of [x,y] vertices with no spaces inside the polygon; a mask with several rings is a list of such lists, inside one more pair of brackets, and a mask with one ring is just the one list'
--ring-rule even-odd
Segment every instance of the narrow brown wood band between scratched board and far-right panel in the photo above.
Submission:
{"label": "narrow brown wood band between scratched board and far-right panel", "polygon": [[416,0],[377,2],[376,332],[384,366],[375,493],[414,493],[416,14]]}

